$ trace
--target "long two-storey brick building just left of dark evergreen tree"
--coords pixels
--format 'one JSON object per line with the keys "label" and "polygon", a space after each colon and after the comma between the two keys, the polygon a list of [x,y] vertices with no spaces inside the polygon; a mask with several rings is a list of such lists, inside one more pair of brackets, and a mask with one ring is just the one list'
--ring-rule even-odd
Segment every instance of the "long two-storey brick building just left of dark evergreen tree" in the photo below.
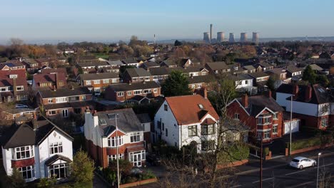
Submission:
{"label": "long two-storey brick building just left of dark evergreen tree", "polygon": [[117,102],[126,102],[126,100],[131,100],[136,95],[147,98],[158,97],[161,95],[161,86],[154,81],[113,84],[106,88],[104,98]]}

